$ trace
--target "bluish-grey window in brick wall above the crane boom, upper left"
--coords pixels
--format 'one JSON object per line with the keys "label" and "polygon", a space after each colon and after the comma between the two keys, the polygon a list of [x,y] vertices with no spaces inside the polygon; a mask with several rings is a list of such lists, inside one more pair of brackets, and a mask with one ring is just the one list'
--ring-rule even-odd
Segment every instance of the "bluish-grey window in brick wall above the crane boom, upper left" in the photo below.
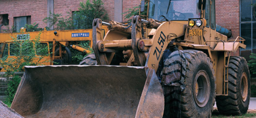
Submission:
{"label": "bluish-grey window in brick wall above the crane boom, upper left", "polygon": [[16,32],[20,32],[20,28],[26,24],[31,25],[31,16],[14,17],[14,27]]}

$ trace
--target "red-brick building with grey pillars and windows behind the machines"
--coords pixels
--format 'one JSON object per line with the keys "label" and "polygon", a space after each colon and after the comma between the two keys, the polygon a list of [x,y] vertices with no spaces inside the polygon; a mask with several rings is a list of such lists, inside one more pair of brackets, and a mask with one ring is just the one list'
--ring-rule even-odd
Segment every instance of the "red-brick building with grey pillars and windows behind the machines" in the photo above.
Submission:
{"label": "red-brick building with grey pillars and windows behind the machines", "polygon": [[[15,27],[20,27],[26,23],[39,23],[39,27],[45,27],[47,24],[42,20],[50,11],[62,13],[65,17],[68,15],[67,11],[78,11],[80,1],[82,0],[1,0],[0,15],[6,25],[2,26],[2,29],[11,28],[14,24]],[[121,13],[140,4],[140,0],[102,1],[109,18],[116,21],[124,21],[124,15]],[[246,38],[247,48],[233,55],[242,55],[247,59],[251,52],[256,53],[256,40],[252,40],[256,38],[256,30],[253,28],[256,18],[253,15],[255,9],[251,4],[254,4],[254,0],[216,0],[216,23],[232,31],[231,39],[239,35]]]}

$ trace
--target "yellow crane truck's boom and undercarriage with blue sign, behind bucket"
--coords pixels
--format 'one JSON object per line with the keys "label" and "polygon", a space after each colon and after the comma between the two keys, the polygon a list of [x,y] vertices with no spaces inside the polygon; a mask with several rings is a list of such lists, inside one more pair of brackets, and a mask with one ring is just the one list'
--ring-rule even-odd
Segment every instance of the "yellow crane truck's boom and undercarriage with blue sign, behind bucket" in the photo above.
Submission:
{"label": "yellow crane truck's boom and undercarriage with blue sign, behind bucket", "polygon": [[[108,31],[107,26],[105,26],[101,31],[102,36],[104,36]],[[90,47],[92,47],[92,29],[0,33],[1,58],[4,56],[8,56],[8,58],[13,56],[12,51],[14,50],[11,49],[14,46],[14,42],[12,41],[13,38],[17,38],[17,40],[33,40],[39,35],[39,33],[41,33],[40,44],[47,46],[48,53],[52,53],[52,55],[44,57],[44,59],[49,60],[42,63],[44,65],[54,65],[53,62],[57,62],[60,65],[70,64],[72,57],[71,52],[67,47],[71,47],[81,52],[90,53],[89,49],[78,46],[78,41],[89,41]],[[51,43],[52,45],[49,45]]]}

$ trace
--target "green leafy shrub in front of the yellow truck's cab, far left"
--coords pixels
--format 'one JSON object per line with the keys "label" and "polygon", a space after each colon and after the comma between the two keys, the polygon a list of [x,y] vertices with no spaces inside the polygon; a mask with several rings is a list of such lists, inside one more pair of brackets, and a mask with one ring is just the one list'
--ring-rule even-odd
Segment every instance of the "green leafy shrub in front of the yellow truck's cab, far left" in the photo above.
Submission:
{"label": "green leafy shrub in front of the yellow truck's cab, far left", "polygon": [[50,60],[44,59],[49,56],[48,46],[40,43],[40,34],[33,40],[28,40],[29,35],[24,35],[24,39],[18,40],[16,37],[12,39],[10,44],[10,55],[8,55],[8,47],[3,51],[3,57],[0,59],[0,66],[4,69],[4,78],[8,81],[8,99],[6,104],[11,104],[17,87],[20,83],[20,77],[15,76],[15,72],[24,71],[24,66],[43,65]]}

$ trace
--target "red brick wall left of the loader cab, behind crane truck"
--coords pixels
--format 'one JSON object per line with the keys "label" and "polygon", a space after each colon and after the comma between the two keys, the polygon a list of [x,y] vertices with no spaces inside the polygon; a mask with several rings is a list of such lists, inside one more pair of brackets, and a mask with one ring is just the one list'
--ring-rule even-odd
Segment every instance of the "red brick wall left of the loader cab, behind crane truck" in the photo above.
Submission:
{"label": "red brick wall left of the loader cab, behind crane truck", "polygon": [[[54,13],[61,13],[66,17],[70,10],[78,11],[80,1],[82,0],[54,0]],[[114,0],[103,0],[103,3],[109,18],[114,19]],[[39,23],[39,27],[45,27],[43,19],[47,17],[47,0],[1,0],[0,14],[9,15],[9,26],[2,26],[2,29],[12,28],[13,17],[21,16],[31,16],[31,24]]]}

